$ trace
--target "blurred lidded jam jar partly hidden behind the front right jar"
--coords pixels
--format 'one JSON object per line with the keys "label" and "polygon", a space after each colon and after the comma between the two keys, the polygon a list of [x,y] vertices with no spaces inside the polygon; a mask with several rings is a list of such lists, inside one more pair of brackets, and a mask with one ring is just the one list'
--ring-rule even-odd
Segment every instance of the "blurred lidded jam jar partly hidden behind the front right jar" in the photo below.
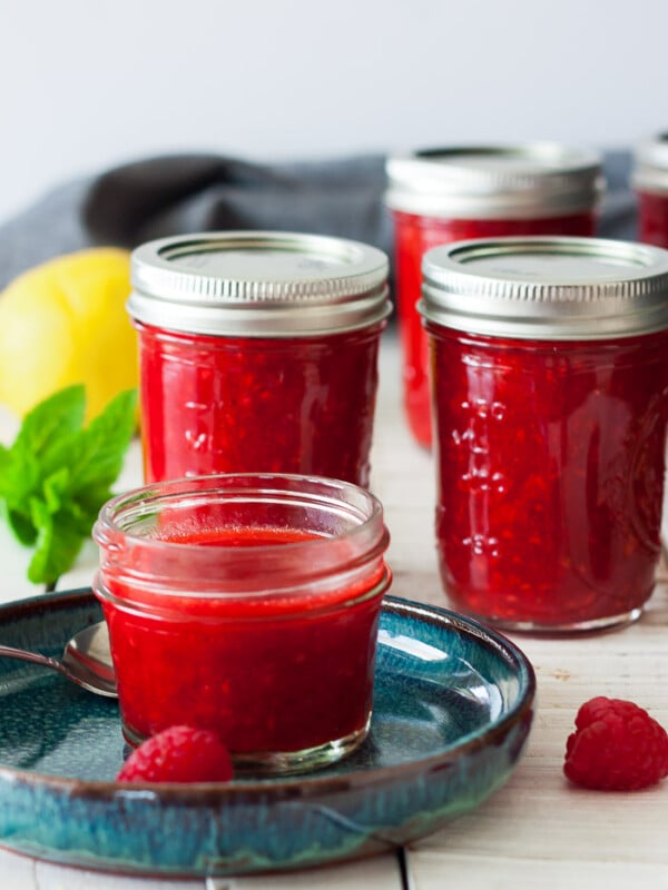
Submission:
{"label": "blurred lidded jam jar partly hidden behind the front right jar", "polygon": [[403,399],[415,439],[432,443],[426,336],[416,304],[425,250],[468,238],[592,236],[599,155],[552,142],[441,148],[387,161],[403,356]]}

